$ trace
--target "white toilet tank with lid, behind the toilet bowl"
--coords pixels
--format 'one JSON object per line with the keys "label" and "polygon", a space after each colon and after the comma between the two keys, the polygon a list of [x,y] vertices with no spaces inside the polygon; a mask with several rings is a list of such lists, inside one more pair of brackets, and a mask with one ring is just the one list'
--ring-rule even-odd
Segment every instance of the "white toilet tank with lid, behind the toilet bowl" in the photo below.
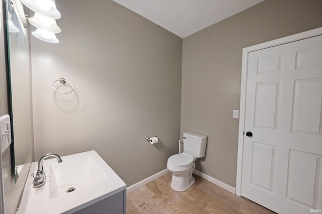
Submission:
{"label": "white toilet tank with lid, behind the toilet bowl", "polygon": [[206,152],[207,136],[193,132],[183,133],[184,152],[195,157],[203,157]]}

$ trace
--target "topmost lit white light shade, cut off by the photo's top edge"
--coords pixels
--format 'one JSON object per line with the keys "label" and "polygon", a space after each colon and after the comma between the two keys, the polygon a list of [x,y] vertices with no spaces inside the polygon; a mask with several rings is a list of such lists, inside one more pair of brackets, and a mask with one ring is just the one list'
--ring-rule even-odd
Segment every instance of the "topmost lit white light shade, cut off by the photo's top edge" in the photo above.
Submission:
{"label": "topmost lit white light shade, cut off by the photo's top edge", "polygon": [[59,19],[60,13],[56,9],[55,0],[21,0],[30,10],[52,19]]}

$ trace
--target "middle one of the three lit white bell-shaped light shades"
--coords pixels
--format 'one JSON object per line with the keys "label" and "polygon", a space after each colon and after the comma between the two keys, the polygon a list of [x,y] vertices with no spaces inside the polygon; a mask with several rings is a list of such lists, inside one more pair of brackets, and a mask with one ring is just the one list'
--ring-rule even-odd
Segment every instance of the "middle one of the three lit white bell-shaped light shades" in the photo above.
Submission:
{"label": "middle one of the three lit white bell-shaped light shades", "polygon": [[56,20],[35,13],[34,17],[29,18],[30,24],[36,28],[41,28],[52,33],[60,33],[60,28],[56,24]]}

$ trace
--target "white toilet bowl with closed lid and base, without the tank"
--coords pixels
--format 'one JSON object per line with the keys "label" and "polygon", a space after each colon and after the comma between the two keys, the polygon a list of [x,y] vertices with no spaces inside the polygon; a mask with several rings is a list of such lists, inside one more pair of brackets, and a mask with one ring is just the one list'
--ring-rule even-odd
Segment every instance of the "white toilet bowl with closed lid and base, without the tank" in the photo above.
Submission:
{"label": "white toilet bowl with closed lid and base, without the tank", "polygon": [[171,188],[185,191],[195,182],[192,177],[195,159],[197,158],[185,152],[169,157],[167,168],[172,172]]}

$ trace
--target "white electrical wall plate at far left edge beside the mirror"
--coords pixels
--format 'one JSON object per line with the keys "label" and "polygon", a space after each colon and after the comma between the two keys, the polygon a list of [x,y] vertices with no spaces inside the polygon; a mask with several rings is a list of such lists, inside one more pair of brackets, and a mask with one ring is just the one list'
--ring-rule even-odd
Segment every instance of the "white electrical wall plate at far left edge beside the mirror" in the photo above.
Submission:
{"label": "white electrical wall plate at far left edge beside the mirror", "polygon": [[11,144],[10,116],[0,117],[0,151],[4,153]]}

